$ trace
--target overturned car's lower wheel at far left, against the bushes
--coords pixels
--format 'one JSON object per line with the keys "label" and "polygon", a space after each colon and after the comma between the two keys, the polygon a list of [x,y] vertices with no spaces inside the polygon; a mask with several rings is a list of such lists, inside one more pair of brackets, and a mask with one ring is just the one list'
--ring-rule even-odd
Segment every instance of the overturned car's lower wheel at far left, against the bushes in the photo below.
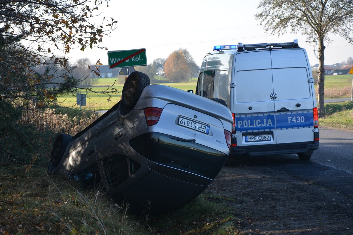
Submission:
{"label": "overturned car's lower wheel at far left, against the bushes", "polygon": [[[66,134],[59,134],[58,137],[56,137],[54,144],[53,144],[53,149],[52,152],[50,153],[50,163],[54,167],[57,167],[62,159],[62,156],[64,156],[66,147],[68,143],[70,143],[72,139],[71,135],[66,135]],[[49,171],[49,167],[48,167]]]}

